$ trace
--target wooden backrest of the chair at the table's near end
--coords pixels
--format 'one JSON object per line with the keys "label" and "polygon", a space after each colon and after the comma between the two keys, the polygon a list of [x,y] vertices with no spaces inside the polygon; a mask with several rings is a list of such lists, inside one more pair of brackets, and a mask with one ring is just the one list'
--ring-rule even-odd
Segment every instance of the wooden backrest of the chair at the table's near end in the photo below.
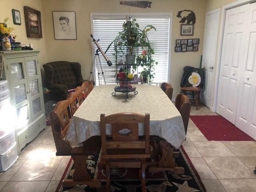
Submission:
{"label": "wooden backrest of the chair at the table's near end", "polygon": [[[147,158],[149,155],[149,121],[150,114],[118,113],[100,115],[100,132],[102,142],[102,158]],[[144,124],[144,139],[139,139],[139,123]],[[111,124],[112,139],[107,140],[106,124]],[[109,137],[108,137],[109,138]],[[109,149],[129,150],[128,154],[108,154]],[[133,150],[144,149],[142,154],[134,154]]]}

